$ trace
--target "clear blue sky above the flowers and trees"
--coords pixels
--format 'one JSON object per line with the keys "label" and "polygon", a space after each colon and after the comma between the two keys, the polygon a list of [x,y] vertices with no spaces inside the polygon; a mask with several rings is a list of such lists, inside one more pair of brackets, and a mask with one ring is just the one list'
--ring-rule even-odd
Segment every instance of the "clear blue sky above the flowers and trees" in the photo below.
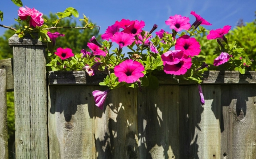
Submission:
{"label": "clear blue sky above the flowers and trees", "polygon": [[[3,1],[3,0],[2,0]],[[114,24],[116,20],[130,19],[143,20],[146,24],[144,30],[150,31],[152,25],[158,24],[158,29],[164,29],[171,32],[171,29],[165,24],[165,21],[175,14],[188,16],[190,23],[195,21],[191,11],[201,15],[205,20],[212,23],[211,26],[206,26],[207,29],[222,28],[224,25],[236,26],[239,19],[244,22],[252,22],[254,20],[254,11],[256,11],[256,1],[241,1],[241,0],[181,0],[181,1],[82,1],[82,0],[22,0],[23,6],[34,7],[36,10],[48,15],[49,12],[62,12],[67,7],[74,7],[79,12],[79,18],[82,19],[82,14],[85,14],[101,27],[100,33],[104,33],[109,25]],[[0,5],[0,10],[3,12],[3,25],[12,25],[15,23],[14,18],[18,18],[18,6],[15,6],[10,0],[6,0],[4,5]],[[0,27],[0,35],[6,31],[6,28]]]}

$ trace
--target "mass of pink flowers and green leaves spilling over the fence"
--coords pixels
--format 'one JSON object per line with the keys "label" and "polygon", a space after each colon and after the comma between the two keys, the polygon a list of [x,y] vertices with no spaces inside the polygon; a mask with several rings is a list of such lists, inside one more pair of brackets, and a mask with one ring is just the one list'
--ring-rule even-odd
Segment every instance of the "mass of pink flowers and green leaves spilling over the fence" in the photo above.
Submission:
{"label": "mass of pink flowers and green leaves spilling over the fence", "polygon": [[[75,8],[69,7],[64,12],[58,12],[53,27],[45,24],[42,13],[34,8],[20,7],[18,11],[18,22],[26,22],[16,33],[19,37],[30,33],[38,33],[39,40],[47,42],[49,62],[47,66],[52,71],[84,70],[89,76],[97,71],[106,72],[106,78],[100,85],[108,86],[106,91],[93,91],[94,100],[98,108],[104,108],[104,102],[108,93],[118,87],[132,87],[139,90],[142,87],[158,87],[158,79],[155,72],[165,72],[176,79],[188,80],[197,84],[200,94],[200,102],[204,105],[204,96],[201,82],[204,71],[207,70],[239,70],[245,74],[246,67],[251,65],[247,56],[243,55],[243,48],[237,48],[236,43],[229,44],[225,34],[229,32],[230,26],[207,31],[202,25],[212,25],[207,20],[191,11],[195,20],[182,15],[170,16],[166,25],[170,29],[164,31],[154,25],[150,31],[143,30],[146,25],[143,20],[117,20],[110,25],[104,34],[102,42],[98,42],[93,36],[87,47],[81,48],[80,53],[73,53],[72,48],[55,48],[56,38],[65,38],[63,34],[51,32],[57,27],[57,23],[63,18],[72,15],[78,17]],[[88,23],[84,15],[86,28],[97,27]],[[72,29],[72,27],[65,27]],[[217,40],[218,47],[214,54],[218,55],[212,63],[205,63],[204,55],[200,55],[201,44],[196,40],[197,35],[207,35],[208,40]],[[56,49],[56,50],[55,50]],[[127,51],[128,50],[128,51]]]}

